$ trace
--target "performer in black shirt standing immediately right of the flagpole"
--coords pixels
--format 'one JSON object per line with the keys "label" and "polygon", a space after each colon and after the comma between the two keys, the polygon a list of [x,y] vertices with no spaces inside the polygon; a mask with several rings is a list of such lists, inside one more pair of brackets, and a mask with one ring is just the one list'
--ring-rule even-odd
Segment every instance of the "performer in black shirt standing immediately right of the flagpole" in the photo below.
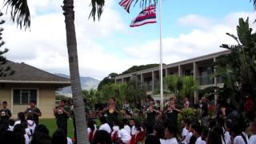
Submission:
{"label": "performer in black shirt standing immediately right of the flagpole", "polygon": [[175,102],[176,102],[176,98],[170,97],[170,102],[164,113],[167,116],[168,125],[178,126],[178,113],[180,113],[181,110],[178,110],[176,108]]}

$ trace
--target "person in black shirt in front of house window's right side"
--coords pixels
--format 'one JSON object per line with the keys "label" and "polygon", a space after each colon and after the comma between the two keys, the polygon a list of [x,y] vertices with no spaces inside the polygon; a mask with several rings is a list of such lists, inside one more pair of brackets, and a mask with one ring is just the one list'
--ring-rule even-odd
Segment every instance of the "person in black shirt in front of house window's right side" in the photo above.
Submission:
{"label": "person in black shirt in front of house window's right side", "polygon": [[38,125],[38,117],[42,116],[41,111],[36,107],[35,101],[30,101],[30,107],[27,108],[24,112],[24,114],[27,116],[28,114],[31,114],[32,120]]}

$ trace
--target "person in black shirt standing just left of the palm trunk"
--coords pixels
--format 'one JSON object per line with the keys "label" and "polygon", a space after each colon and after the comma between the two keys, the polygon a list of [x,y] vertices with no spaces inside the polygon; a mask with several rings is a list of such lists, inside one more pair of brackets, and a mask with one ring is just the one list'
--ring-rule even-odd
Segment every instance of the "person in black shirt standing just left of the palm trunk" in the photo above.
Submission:
{"label": "person in black shirt standing just left of the palm trunk", "polygon": [[54,115],[57,120],[58,129],[65,130],[67,134],[67,119],[70,116],[70,109],[65,104],[65,100],[58,102],[58,107],[54,108]]}

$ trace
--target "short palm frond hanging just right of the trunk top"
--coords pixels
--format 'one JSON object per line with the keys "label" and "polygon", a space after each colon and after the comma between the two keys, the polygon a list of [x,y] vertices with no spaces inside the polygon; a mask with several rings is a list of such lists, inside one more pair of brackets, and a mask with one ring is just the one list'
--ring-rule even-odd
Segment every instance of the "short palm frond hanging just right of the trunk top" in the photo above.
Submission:
{"label": "short palm frond hanging just right of the trunk top", "polygon": [[91,4],[90,4],[91,11],[90,11],[89,18],[93,18],[95,21],[95,17],[97,14],[97,17],[99,20],[102,16],[104,5],[105,5],[105,0],[91,0]]}

